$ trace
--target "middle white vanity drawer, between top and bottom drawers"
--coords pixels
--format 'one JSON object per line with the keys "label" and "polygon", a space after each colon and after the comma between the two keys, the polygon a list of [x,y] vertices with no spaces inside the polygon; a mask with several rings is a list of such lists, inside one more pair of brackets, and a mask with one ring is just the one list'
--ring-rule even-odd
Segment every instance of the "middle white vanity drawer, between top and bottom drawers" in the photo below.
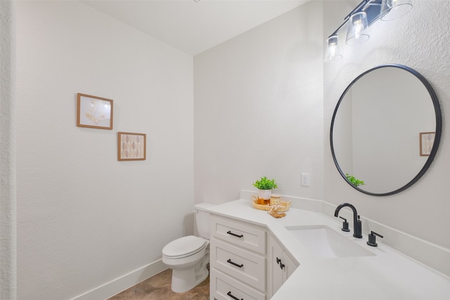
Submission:
{"label": "middle white vanity drawer, between top and bottom drawers", "polygon": [[266,258],[213,238],[210,258],[214,268],[261,291],[266,289]]}

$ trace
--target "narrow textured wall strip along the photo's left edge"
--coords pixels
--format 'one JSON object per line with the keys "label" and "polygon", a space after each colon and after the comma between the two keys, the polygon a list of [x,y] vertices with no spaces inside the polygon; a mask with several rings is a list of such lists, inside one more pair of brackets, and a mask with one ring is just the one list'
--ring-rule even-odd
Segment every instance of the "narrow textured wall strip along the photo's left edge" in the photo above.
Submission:
{"label": "narrow textured wall strip along the photo's left edge", "polygon": [[0,299],[17,295],[14,12],[0,1]]}

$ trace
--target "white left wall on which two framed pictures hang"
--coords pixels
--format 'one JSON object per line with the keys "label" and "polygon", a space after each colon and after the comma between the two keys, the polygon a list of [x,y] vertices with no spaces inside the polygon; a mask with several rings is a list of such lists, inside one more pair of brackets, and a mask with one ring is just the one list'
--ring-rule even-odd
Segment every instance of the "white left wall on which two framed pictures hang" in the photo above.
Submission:
{"label": "white left wall on which two framed pictures hang", "polygon": [[[193,58],[79,1],[17,14],[18,299],[69,299],[191,230]],[[112,131],[76,126],[77,93],[114,100]],[[117,161],[117,131],[146,161]]]}

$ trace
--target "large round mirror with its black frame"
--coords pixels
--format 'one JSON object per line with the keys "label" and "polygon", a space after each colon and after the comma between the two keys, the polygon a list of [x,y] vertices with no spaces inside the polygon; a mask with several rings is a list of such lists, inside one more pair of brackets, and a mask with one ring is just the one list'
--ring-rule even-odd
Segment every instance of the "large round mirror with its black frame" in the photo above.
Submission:
{"label": "large round mirror with its black frame", "polygon": [[439,102],[425,77],[404,65],[381,65],[342,93],[331,121],[331,152],[353,188],[392,195],[430,167],[441,127]]}

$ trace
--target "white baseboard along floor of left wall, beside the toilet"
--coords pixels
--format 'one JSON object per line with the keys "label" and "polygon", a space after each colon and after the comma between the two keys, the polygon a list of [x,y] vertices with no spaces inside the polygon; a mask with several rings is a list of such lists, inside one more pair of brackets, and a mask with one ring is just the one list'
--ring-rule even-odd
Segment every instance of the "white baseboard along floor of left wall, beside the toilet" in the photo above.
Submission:
{"label": "white baseboard along floor of left wall, beside the toilet", "polygon": [[152,277],[153,275],[161,273],[165,269],[167,269],[167,266],[165,266],[165,264],[162,263],[162,260],[159,259],[158,261],[149,263],[147,266],[143,266],[137,270],[131,271],[128,274],[122,275],[120,278],[107,282],[100,287],[91,289],[89,292],[76,296],[71,300],[108,299],[115,294],[119,294],[125,289],[128,289],[129,287]]}

